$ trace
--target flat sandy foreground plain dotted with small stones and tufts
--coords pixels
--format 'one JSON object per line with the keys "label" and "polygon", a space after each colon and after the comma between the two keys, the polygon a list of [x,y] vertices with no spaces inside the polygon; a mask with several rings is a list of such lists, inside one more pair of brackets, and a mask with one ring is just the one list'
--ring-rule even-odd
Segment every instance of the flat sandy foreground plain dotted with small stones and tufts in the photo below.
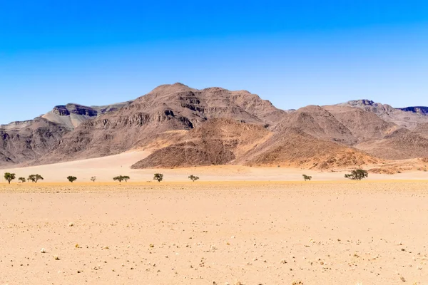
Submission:
{"label": "flat sandy foreground plain dotted with small stones and tufts", "polygon": [[428,284],[427,186],[3,186],[0,284]]}

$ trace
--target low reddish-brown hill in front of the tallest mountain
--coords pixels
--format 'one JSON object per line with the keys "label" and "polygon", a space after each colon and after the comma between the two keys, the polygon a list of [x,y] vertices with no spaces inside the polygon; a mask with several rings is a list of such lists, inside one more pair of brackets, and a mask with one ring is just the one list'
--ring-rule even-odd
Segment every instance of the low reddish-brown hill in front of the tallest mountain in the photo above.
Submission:
{"label": "low reddish-brown hill in front of the tallest mountain", "polygon": [[263,125],[225,118],[209,119],[175,143],[156,150],[132,168],[191,167],[235,162],[270,137]]}

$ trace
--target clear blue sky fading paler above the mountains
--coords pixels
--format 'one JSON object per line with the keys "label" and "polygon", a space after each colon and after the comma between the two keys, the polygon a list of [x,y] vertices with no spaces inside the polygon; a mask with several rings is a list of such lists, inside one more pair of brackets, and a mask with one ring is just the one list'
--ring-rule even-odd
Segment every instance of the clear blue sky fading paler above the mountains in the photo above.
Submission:
{"label": "clear blue sky fading paler above the mountains", "polygon": [[175,82],[428,105],[428,2],[0,0],[0,123]]}

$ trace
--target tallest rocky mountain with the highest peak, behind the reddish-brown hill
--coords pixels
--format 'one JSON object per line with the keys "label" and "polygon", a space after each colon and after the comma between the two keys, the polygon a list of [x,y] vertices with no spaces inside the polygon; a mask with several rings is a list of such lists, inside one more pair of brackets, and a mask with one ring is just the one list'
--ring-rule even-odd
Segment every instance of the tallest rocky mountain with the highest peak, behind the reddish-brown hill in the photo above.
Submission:
{"label": "tallest rocky mountain with the highest peak, behind the reddish-brown hill", "polygon": [[197,90],[181,83],[164,85],[116,112],[88,120],[64,135],[60,145],[36,164],[114,155],[145,147],[170,130],[191,130],[206,120],[230,118],[273,127],[286,112],[248,91]]}

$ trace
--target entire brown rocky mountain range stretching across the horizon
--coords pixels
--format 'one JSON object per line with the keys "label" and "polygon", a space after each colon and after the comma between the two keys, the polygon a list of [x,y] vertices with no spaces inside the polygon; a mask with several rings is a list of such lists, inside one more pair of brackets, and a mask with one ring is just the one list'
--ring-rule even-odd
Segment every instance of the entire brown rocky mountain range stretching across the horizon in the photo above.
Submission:
{"label": "entire brown rocky mountain range stretching across the horizon", "polygon": [[150,150],[133,168],[198,165],[327,170],[428,157],[428,108],[371,100],[280,110],[245,90],[158,86],[108,106],[59,105],[0,126],[0,167]]}

